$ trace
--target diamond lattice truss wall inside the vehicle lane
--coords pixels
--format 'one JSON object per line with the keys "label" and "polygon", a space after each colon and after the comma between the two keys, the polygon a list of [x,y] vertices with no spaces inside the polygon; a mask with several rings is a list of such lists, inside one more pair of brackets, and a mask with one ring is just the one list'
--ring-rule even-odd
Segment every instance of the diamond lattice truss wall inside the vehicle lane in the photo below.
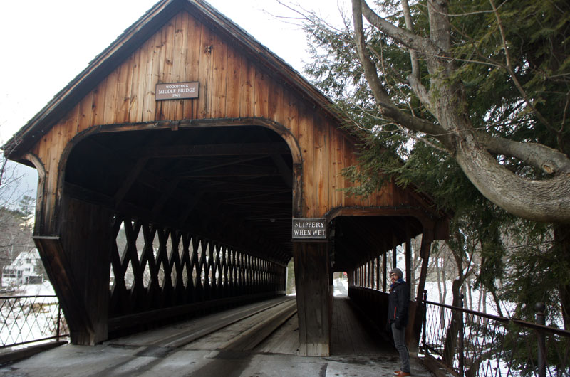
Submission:
{"label": "diamond lattice truss wall inside the vehicle lane", "polygon": [[180,230],[115,216],[110,317],[284,290],[284,267]]}

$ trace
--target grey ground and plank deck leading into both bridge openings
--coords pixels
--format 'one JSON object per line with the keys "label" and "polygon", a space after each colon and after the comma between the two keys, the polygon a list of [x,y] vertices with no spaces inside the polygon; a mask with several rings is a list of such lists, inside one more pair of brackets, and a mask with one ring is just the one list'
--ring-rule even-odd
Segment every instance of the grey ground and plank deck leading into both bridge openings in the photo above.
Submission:
{"label": "grey ground and plank deck leading into both bridge openings", "polygon": [[[252,307],[249,307],[253,311]],[[191,341],[184,346],[173,334],[189,336],[191,328],[205,329],[222,317],[236,315],[248,307],[223,314],[172,324],[97,346],[65,346],[0,367],[0,376],[199,376],[199,377],[343,377],[392,376],[399,369],[398,354],[393,346],[358,319],[347,297],[335,297],[331,356],[297,356],[299,346],[297,317],[294,315],[269,338],[251,351],[223,349],[229,337],[239,336],[244,323]],[[257,315],[257,314],[255,314]],[[249,322],[259,322],[249,317]],[[190,322],[192,322],[190,324]],[[241,329],[241,330],[240,330]],[[160,341],[167,339],[168,344]],[[413,358],[413,376],[431,376],[418,359]]]}

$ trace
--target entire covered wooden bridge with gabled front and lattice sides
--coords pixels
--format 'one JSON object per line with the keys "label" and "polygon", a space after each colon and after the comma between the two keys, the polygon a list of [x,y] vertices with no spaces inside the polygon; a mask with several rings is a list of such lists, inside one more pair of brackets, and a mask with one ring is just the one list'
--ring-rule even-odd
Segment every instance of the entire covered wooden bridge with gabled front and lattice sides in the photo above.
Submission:
{"label": "entire covered wooden bridge with gabled front and lattice sides", "polygon": [[73,343],[284,294],[293,257],[299,354],[328,355],[332,273],[358,302],[396,245],[410,278],[420,234],[423,292],[446,218],[393,184],[347,196],[341,122],[207,3],[156,4],[4,145],[38,171],[34,240]]}

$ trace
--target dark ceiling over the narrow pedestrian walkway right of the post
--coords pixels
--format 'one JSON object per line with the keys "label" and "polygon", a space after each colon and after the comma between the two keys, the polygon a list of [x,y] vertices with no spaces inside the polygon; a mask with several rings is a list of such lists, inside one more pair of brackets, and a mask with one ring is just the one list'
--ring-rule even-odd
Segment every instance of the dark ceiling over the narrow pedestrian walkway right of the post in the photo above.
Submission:
{"label": "dark ceiling over the narrow pedestrian walkway right of the post", "polygon": [[408,216],[341,216],[333,221],[333,271],[352,271],[422,233]]}

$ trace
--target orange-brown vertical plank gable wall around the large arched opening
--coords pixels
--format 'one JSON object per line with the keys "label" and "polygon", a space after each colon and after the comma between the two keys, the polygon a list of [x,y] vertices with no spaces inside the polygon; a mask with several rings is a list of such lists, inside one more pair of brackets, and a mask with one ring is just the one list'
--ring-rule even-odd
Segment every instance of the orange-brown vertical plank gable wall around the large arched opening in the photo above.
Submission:
{"label": "orange-brown vertical plank gable wall around the large arched opening", "polygon": [[[155,101],[157,83],[199,81],[195,100]],[[303,163],[302,215],[321,217],[340,206],[392,206],[413,198],[387,186],[364,201],[338,191],[341,170],[356,163],[353,141],[338,124],[276,80],[239,48],[182,11],[151,36],[33,147],[46,168],[44,234],[56,233],[53,208],[66,144],[104,124],[158,120],[261,117],[283,124],[299,142]],[[61,189],[61,188],[60,188]]]}

